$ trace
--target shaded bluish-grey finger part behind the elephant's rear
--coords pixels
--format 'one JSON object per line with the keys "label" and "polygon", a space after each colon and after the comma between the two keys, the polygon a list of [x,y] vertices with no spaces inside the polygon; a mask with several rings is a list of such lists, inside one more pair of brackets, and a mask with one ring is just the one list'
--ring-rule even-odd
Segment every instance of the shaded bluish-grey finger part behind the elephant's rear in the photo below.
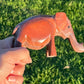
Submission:
{"label": "shaded bluish-grey finger part behind the elephant's rear", "polygon": [[11,48],[13,44],[13,40],[14,40],[13,36],[1,40],[0,48],[2,49]]}

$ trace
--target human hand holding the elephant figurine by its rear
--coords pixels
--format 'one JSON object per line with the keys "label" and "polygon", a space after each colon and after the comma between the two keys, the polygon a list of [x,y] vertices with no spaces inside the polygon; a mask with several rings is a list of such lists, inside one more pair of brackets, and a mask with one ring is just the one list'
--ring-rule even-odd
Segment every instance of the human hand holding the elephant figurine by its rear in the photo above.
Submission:
{"label": "human hand holding the elephant figurine by its rear", "polygon": [[12,40],[13,37],[7,38],[2,42],[7,45],[0,45],[0,84],[22,84],[25,65],[32,62],[27,49],[11,48]]}

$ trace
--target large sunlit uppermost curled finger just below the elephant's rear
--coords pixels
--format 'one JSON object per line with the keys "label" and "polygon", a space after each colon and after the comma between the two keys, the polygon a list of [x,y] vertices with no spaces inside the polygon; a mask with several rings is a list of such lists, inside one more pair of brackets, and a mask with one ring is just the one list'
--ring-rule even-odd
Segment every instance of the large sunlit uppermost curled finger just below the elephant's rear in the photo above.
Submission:
{"label": "large sunlit uppermost curled finger just below the elephant's rear", "polygon": [[32,63],[30,53],[26,48],[10,48],[4,49],[5,56],[2,55],[4,62],[10,64],[25,65],[26,63]]}

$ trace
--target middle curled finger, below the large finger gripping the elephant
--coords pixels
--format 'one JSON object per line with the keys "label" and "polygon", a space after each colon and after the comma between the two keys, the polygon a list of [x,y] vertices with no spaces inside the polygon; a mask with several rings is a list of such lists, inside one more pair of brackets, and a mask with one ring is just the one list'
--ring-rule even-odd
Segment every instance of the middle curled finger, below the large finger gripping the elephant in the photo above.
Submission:
{"label": "middle curled finger, below the large finger gripping the elephant", "polygon": [[15,65],[15,68],[11,71],[10,74],[23,76],[25,70],[25,66]]}

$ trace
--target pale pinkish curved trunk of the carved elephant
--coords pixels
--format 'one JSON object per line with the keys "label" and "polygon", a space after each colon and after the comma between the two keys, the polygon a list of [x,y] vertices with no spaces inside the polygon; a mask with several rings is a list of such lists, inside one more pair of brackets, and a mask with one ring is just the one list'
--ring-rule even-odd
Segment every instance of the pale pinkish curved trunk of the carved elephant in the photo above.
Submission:
{"label": "pale pinkish curved trunk of the carved elephant", "polygon": [[70,35],[69,40],[70,40],[70,43],[71,43],[73,49],[74,49],[76,52],[79,52],[79,53],[84,52],[83,43],[78,43],[78,42],[77,42],[74,33]]}

